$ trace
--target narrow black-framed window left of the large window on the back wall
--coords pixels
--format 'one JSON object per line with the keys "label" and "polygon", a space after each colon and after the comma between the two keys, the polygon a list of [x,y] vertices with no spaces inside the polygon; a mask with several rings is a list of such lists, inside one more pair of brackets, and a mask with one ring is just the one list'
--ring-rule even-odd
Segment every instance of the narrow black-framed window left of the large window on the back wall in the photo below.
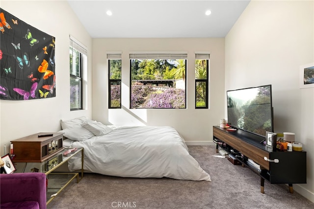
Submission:
{"label": "narrow black-framed window left of the large window on the back wall", "polygon": [[109,108],[121,108],[121,53],[108,53]]}

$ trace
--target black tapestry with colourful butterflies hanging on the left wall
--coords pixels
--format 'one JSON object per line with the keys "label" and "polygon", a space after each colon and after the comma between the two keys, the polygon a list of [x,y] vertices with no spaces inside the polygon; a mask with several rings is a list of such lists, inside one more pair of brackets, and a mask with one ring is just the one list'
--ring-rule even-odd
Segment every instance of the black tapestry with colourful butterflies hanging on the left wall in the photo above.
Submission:
{"label": "black tapestry with colourful butterflies hanging on the left wall", "polygon": [[55,37],[0,8],[0,99],[55,97],[54,53]]}

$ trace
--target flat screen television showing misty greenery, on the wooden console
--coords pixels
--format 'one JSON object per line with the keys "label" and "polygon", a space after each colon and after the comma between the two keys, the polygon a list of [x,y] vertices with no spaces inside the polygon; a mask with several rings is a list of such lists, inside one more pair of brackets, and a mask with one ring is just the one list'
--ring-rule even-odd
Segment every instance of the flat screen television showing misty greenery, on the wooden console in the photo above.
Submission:
{"label": "flat screen television showing misty greenery, on the wooden console", "polygon": [[227,91],[228,124],[261,136],[274,132],[271,85]]}

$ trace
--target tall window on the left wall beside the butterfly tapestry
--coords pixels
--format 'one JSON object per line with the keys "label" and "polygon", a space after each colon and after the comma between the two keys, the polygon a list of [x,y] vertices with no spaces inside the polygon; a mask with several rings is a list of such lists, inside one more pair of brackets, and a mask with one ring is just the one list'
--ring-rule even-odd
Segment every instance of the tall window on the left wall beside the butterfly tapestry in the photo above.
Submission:
{"label": "tall window on the left wall beside the butterfly tapestry", "polygon": [[82,73],[86,50],[70,37],[70,110],[83,109]]}

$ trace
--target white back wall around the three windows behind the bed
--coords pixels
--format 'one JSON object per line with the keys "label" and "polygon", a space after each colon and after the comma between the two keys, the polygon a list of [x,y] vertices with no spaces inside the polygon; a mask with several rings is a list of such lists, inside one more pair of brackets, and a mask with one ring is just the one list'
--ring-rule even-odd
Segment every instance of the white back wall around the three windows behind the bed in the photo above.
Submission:
{"label": "white back wall around the three windows behind the bed", "polygon": [[[208,144],[212,126],[224,116],[224,38],[93,39],[93,119],[113,125],[172,126],[189,143]],[[108,109],[106,52],[122,52],[122,108]],[[188,52],[187,109],[130,109],[129,53]],[[195,109],[195,54],[210,52],[210,108]]]}

